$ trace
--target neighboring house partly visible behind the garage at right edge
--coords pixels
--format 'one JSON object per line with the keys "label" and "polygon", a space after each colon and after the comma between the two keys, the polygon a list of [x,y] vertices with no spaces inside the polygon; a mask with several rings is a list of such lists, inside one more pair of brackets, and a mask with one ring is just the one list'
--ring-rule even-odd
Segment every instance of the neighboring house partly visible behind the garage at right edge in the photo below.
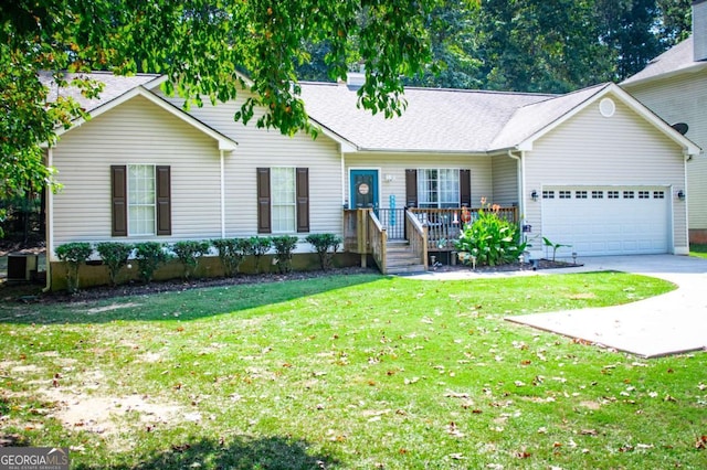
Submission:
{"label": "neighboring house partly visible behind the garage at right edge", "polygon": [[[693,2],[693,35],[657,56],[621,86],[707,148],[707,0]],[[684,130],[684,129],[683,129]],[[707,243],[707,158],[687,162],[689,239]]]}

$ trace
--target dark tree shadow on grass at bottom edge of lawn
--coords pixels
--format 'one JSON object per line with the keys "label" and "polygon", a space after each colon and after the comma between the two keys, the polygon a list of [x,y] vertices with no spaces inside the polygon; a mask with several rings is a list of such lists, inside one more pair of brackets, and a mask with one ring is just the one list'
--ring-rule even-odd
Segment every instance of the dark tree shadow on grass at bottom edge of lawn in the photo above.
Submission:
{"label": "dark tree shadow on grass at bottom edge of lawn", "polygon": [[[303,440],[272,437],[235,437],[231,442],[221,445],[212,440],[199,440],[171,446],[169,450],[150,456],[148,460],[135,462],[131,455],[116,456],[115,463],[108,466],[91,463],[87,453],[76,462],[72,458],[72,469],[76,470],[165,470],[165,469],[268,469],[268,470],[310,470],[338,468],[339,462],[330,456],[307,453],[307,444]],[[117,462],[123,460],[123,462]]]}

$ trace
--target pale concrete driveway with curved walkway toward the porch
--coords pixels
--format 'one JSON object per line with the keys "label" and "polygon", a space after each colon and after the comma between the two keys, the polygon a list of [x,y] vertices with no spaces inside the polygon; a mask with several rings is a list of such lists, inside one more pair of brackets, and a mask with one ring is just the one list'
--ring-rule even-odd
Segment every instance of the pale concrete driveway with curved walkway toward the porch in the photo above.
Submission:
{"label": "pale concrete driveway with curved walkway toward the porch", "polygon": [[[551,275],[616,270],[668,280],[678,289],[623,306],[508,317],[506,320],[592,343],[656,357],[707,349],[707,259],[673,255],[610,256],[578,259],[584,266],[523,271]],[[454,273],[420,278],[452,278]],[[461,273],[455,278],[499,277]]]}

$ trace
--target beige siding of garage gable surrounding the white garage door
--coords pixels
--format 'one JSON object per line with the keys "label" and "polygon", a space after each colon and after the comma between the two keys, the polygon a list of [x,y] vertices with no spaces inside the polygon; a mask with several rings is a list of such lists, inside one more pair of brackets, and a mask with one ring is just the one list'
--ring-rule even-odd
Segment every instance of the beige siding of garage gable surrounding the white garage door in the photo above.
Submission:
{"label": "beige siding of garage gable surrounding the white garage door", "polygon": [[541,200],[529,199],[532,190],[540,192],[548,185],[672,186],[673,245],[684,249],[685,202],[675,195],[685,184],[682,149],[619,99],[614,102],[612,117],[603,117],[599,103],[593,103],[525,152],[526,217],[534,235],[541,235],[542,229]]}

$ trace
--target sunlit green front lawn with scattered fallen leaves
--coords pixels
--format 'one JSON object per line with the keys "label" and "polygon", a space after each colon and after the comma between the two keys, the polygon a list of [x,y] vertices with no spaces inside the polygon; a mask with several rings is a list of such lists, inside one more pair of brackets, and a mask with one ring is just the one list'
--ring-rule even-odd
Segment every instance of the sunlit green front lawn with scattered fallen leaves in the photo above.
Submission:
{"label": "sunlit green front lawn with scattered fallen leaves", "polygon": [[641,360],[503,320],[673,288],[361,275],[3,303],[1,432],[71,447],[75,469],[704,468],[706,354]]}

